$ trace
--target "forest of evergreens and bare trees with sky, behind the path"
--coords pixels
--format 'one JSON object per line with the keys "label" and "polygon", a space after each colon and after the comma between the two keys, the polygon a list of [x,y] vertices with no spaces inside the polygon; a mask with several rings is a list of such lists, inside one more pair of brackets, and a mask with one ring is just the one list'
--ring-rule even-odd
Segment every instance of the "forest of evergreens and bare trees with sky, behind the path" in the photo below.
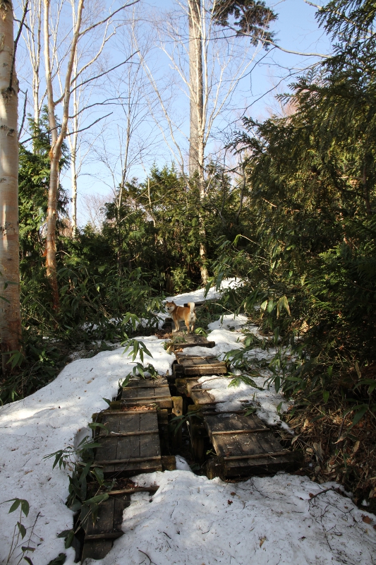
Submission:
{"label": "forest of evergreens and bare trees with sky, behind the path", "polygon": [[[296,401],[289,417],[317,422],[314,436],[335,428],[327,465],[373,492],[376,8],[365,0],[315,6],[328,54],[303,53],[312,56],[304,66],[279,69],[289,88],[257,120],[235,92],[283,48],[275,47],[277,6],[194,1],[162,13],[141,2],[87,2],[85,11],[73,0],[33,2],[15,6],[24,19],[16,58],[23,330],[16,350],[3,343],[1,402],[44,386],[78,347],[126,340],[141,320],[142,333],[154,331],[164,295],[236,276],[243,285],[222,308],[248,314],[264,337],[249,335],[234,366],[251,374],[247,352],[277,346],[268,368]],[[189,101],[189,133],[178,89]],[[114,105],[123,119],[110,129]],[[172,155],[165,162],[161,140]],[[97,174],[94,162],[107,170],[112,196],[87,198],[88,221],[78,227],[77,179],[88,167]],[[72,194],[56,184],[56,226],[54,166],[56,179],[71,167],[72,182]],[[12,285],[3,278],[6,302]],[[352,465],[357,451],[362,460]]]}

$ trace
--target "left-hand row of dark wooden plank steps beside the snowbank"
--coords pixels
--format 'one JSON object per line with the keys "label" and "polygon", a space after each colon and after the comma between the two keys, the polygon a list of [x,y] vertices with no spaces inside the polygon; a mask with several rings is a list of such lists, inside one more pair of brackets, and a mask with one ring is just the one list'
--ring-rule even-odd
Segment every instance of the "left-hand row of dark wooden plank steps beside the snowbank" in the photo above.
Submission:
{"label": "left-hand row of dark wooden plank steps beside the snowbank", "polygon": [[[94,466],[102,469],[105,479],[121,482],[145,472],[174,470],[174,456],[163,456],[168,451],[169,415],[181,415],[183,401],[171,397],[166,379],[135,379],[121,388],[109,410],[93,414],[92,420],[103,424],[95,441]],[[98,428],[97,428],[98,429]],[[97,521],[86,525],[83,545],[84,559],[102,559],[114,540],[123,535],[123,510],[129,506],[134,492],[154,493],[158,487],[131,487],[114,489],[109,499],[99,505]]]}

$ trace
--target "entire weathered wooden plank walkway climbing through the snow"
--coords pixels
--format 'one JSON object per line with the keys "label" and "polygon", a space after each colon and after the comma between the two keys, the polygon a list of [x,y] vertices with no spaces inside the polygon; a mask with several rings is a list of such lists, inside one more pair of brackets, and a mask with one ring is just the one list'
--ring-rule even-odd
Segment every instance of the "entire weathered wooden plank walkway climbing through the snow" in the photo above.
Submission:
{"label": "entire weathered wooden plank walkway climbing through the snow", "polygon": [[[171,328],[168,323],[167,319],[164,329]],[[223,411],[223,403],[202,388],[205,383],[199,382],[200,376],[220,378],[227,372],[226,362],[187,350],[214,347],[214,341],[179,331],[166,345],[176,357],[171,375],[132,379],[120,388],[108,410],[93,415],[94,422],[106,427],[96,428],[95,441],[101,447],[96,450],[94,465],[103,470],[104,477],[114,479],[116,486],[109,492],[109,499],[99,505],[97,521],[85,527],[83,561],[102,559],[114,540],[123,535],[123,510],[129,506],[131,494],[152,495],[158,488],[118,487],[121,480],[176,468],[175,457],[169,453],[171,447],[176,451],[181,445],[181,427],[177,434],[169,435],[171,417],[186,415],[196,461],[205,463],[205,453],[215,453],[206,462],[210,479],[234,480],[297,467],[295,454],[282,448],[275,431],[253,413],[254,409],[250,410],[249,404],[244,410]],[[171,391],[180,396],[172,396]]]}

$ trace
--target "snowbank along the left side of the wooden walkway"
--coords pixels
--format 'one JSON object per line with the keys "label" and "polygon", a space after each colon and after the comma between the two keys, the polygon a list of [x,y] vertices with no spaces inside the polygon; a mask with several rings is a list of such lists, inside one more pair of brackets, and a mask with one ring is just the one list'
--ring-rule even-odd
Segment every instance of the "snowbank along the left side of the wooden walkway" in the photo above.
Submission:
{"label": "snowbank along the left side of the wooden walkway", "polygon": [[[151,362],[159,374],[171,369],[174,356],[163,349],[162,340],[154,336],[140,339],[153,356],[145,356],[146,364]],[[36,549],[29,554],[35,565],[46,565],[59,552],[66,552],[66,565],[73,564],[73,549],[65,550],[64,541],[56,538],[56,534],[72,527],[73,513],[64,504],[68,472],[52,470],[53,460],[43,457],[73,445],[77,435],[83,439],[89,433],[86,426],[92,413],[107,408],[102,397],[115,396],[119,379],[133,368],[134,364],[122,355],[123,349],[78,359],[40,391],[0,408],[0,503],[16,497],[28,500],[30,513],[22,519],[26,526],[32,525],[40,512],[33,538]],[[0,563],[8,557],[13,528],[19,519],[18,511],[8,514],[10,506],[0,506]],[[27,545],[25,540],[23,545]]]}

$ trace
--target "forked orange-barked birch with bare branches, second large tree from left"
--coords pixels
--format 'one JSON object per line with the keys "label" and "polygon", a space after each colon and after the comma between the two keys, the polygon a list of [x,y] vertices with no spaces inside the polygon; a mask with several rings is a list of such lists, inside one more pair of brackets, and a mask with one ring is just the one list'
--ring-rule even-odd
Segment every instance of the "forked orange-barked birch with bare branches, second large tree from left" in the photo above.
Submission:
{"label": "forked orange-barked birch with bare branches, second large tree from left", "polygon": [[[55,4],[55,13],[51,14],[51,1],[43,0],[43,47],[44,47],[44,71],[45,83],[47,90],[47,108],[49,131],[51,133],[51,150],[50,157],[50,178],[49,178],[49,195],[47,207],[47,240],[46,240],[46,267],[47,277],[51,283],[52,302],[54,309],[59,309],[59,289],[57,284],[56,273],[56,220],[57,220],[57,198],[59,189],[59,162],[61,159],[61,149],[63,142],[68,135],[68,123],[70,119],[70,108],[72,95],[83,85],[104,76],[112,69],[105,69],[95,76],[85,78],[85,71],[98,60],[102,54],[104,44],[106,44],[109,36],[104,32],[102,45],[93,57],[85,61],[79,66],[79,45],[88,35],[92,34],[100,26],[104,26],[107,30],[111,18],[116,13],[123,11],[124,8],[132,6],[138,0],[129,4],[124,4],[113,11],[109,16],[99,21],[93,21],[94,14],[91,13],[91,20],[84,19],[83,0],[77,2],[71,0],[71,9],[73,13],[73,25],[71,31],[66,31],[66,21],[63,20],[61,28],[61,14],[63,11],[64,0]],[[60,34],[59,35],[59,31]],[[129,57],[126,59],[128,61]],[[124,64],[122,61],[114,68]],[[61,85],[61,94],[56,95],[56,81]],[[56,109],[61,105],[61,124],[58,125],[56,119]],[[74,112],[74,110],[73,110]],[[78,112],[75,112],[78,114]],[[74,114],[73,114],[74,116]]]}

